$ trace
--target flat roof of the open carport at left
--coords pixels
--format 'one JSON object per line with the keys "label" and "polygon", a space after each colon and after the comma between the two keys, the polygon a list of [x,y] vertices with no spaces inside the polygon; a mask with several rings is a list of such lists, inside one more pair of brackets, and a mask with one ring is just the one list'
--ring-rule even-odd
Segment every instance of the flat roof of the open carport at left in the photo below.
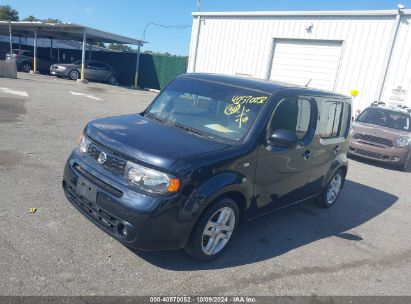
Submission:
{"label": "flat roof of the open carport at left", "polygon": [[[83,33],[86,32],[88,42],[124,43],[133,45],[143,45],[146,43],[142,40],[112,34],[74,23],[54,24],[29,21],[11,21],[11,28],[13,36],[33,37],[34,31],[37,31],[38,38],[82,41]],[[9,22],[0,21],[0,35],[8,34]]]}

